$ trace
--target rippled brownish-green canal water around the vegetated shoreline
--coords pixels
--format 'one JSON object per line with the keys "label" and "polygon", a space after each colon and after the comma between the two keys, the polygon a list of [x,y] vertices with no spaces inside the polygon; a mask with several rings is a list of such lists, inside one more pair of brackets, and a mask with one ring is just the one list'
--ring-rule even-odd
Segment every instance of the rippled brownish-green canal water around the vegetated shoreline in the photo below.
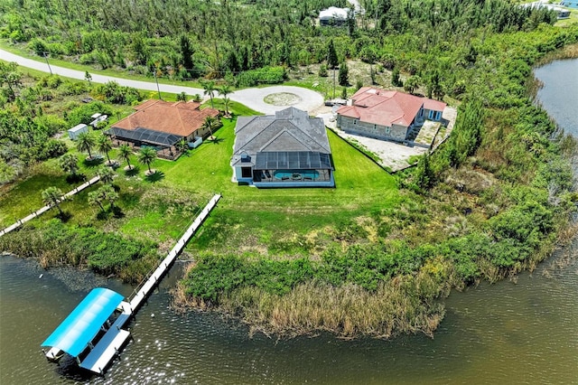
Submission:
{"label": "rippled brownish-green canal water around the vegetated shoreline", "polygon": [[[578,60],[556,61],[536,70],[545,81],[538,93],[545,108],[551,109],[548,92],[558,96],[556,103],[572,97],[564,98],[564,92],[578,89],[568,87],[567,79],[568,73],[578,77],[577,67]],[[549,90],[549,74],[564,77],[564,84]],[[560,110],[573,113],[565,128],[578,136],[576,106]],[[127,296],[133,287],[3,257],[0,384],[578,383],[576,250],[578,239],[516,282],[453,292],[433,339],[410,335],[391,341],[342,341],[328,334],[277,341],[251,337],[246,326],[219,315],[178,315],[168,293],[182,274],[177,263],[137,314],[134,340],[104,378],[86,376],[66,362],[47,362],[40,343],[91,288],[107,286]]]}

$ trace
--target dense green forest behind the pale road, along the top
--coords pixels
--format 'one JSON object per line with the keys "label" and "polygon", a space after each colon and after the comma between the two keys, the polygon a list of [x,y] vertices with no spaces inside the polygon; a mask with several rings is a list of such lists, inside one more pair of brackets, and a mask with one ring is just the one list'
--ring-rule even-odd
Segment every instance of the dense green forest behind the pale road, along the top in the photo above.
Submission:
{"label": "dense green forest behind the pale road, along the top", "polygon": [[27,42],[39,55],[173,79],[226,78],[326,61],[335,68],[359,58],[416,75],[414,83],[421,80],[428,94],[441,98],[463,93],[461,72],[483,55],[485,35],[555,22],[553,12],[503,0],[366,0],[367,12],[356,23],[316,25],[319,11],[329,5],[347,6],[327,0],[135,0],[130,6],[5,0],[0,36]]}

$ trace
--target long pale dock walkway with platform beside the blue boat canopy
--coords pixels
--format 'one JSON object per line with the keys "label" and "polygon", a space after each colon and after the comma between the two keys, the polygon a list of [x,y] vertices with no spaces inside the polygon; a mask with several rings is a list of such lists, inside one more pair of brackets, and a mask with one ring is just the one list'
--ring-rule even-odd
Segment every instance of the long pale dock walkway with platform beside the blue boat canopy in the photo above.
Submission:
{"label": "long pale dock walkway with platform beside the blue boat canopy", "polygon": [[150,274],[145,280],[142,286],[135,291],[135,295],[132,296],[129,302],[122,302],[118,306],[117,320],[112,326],[107,330],[107,333],[98,341],[95,347],[89,352],[89,355],[79,362],[81,368],[93,371],[98,374],[103,374],[108,364],[117,355],[118,351],[122,347],[126,340],[130,336],[130,332],[123,329],[130,318],[135,315],[138,308],[143,305],[144,300],[149,296],[154,287],[163,278],[164,274],[171,268],[174,260],[181,254],[182,249],[199,229],[203,221],[209,216],[209,213],[219,202],[220,194],[215,194],[210,202],[207,203],[205,208],[200,211],[197,218],[191,223],[191,226],[182,234],[182,237],[177,241],[174,247],[171,249],[169,254],[163,259],[154,272]]}

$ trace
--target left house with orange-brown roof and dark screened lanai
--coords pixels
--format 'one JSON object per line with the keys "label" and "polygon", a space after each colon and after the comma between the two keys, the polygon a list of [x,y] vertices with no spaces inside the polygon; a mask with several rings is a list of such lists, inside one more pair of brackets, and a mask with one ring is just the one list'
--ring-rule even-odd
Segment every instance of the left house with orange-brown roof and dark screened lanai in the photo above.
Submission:
{"label": "left house with orange-brown roof and dark screened lanai", "polygon": [[135,112],[117,121],[105,134],[116,144],[152,146],[159,156],[174,159],[178,152],[175,145],[184,139],[192,142],[195,137],[206,137],[203,128],[206,117],[218,117],[215,108],[200,109],[200,103],[146,100],[135,106]]}

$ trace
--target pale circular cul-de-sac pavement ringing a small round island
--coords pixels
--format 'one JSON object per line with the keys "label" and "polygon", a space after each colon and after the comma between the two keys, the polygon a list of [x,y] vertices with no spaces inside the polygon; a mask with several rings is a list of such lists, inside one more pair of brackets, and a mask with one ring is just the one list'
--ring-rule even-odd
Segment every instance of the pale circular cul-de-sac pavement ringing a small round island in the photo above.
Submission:
{"label": "pale circular cul-de-sac pavement ringing a small round island", "polygon": [[[301,101],[286,106],[275,106],[265,102],[266,96],[281,93],[297,95]],[[311,112],[314,109],[320,108],[324,102],[320,93],[312,91],[311,89],[302,89],[301,87],[294,86],[273,86],[265,87],[263,89],[239,89],[238,91],[231,93],[229,98],[244,104],[248,108],[263,112],[266,115],[273,115],[275,114],[275,111],[280,111],[288,107],[299,108]]]}

